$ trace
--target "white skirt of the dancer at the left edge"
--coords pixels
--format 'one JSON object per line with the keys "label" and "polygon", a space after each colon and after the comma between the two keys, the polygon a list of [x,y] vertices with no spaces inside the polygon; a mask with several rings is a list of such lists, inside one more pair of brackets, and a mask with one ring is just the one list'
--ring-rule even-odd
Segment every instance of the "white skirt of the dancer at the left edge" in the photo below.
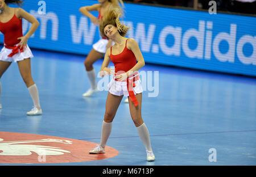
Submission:
{"label": "white skirt of the dancer at the left edge", "polygon": [[[17,46],[16,44],[15,46]],[[7,49],[6,47],[3,47],[1,52],[0,52],[0,60],[1,61],[7,61],[7,62],[17,62],[17,61],[22,61],[26,58],[32,58],[34,57],[30,48],[28,45],[26,48],[23,47],[23,52],[19,52],[14,54],[13,57],[8,57],[10,53],[12,53],[13,49]]]}

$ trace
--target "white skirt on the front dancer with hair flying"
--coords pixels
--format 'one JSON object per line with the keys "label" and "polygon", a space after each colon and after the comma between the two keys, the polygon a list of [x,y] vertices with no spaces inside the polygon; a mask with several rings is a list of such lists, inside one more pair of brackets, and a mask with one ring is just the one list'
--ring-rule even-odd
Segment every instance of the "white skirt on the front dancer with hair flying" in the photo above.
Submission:
{"label": "white skirt on the front dancer with hair flying", "polygon": [[[134,83],[135,83],[135,87],[133,87],[134,95],[142,93],[143,88],[142,88],[141,79],[134,81]],[[112,79],[109,82],[108,87],[109,87],[109,92],[112,95],[129,96],[127,82],[115,81],[114,79]]]}

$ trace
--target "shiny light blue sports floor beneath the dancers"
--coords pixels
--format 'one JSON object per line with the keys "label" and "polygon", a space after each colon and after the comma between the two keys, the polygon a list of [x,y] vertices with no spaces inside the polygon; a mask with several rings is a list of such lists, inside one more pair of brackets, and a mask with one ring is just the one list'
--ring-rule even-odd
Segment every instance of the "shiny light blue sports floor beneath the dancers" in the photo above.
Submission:
{"label": "shiny light blue sports floor beneath the dancers", "polygon": [[[108,91],[82,97],[90,86],[83,64],[85,56],[35,49],[32,52],[32,77],[38,86],[43,115],[26,116],[32,99],[17,64],[11,64],[1,78],[0,132],[100,143]],[[94,64],[96,71],[101,63]],[[158,96],[148,97],[152,92],[148,90],[142,96],[142,117],[150,132],[155,162],[146,161],[129,105],[122,101],[107,142],[107,146],[119,151],[117,156],[44,165],[256,165],[255,78],[149,64],[143,70],[159,71]],[[209,161],[212,148],[216,150],[216,162]]]}

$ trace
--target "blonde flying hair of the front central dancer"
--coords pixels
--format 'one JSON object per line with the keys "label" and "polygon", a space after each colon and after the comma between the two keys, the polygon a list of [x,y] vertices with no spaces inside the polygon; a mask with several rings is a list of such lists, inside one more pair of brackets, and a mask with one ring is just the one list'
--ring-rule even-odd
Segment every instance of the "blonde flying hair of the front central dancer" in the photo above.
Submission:
{"label": "blonde flying hair of the front central dancer", "polygon": [[100,33],[102,37],[108,37],[105,35],[104,28],[108,24],[112,24],[114,27],[117,27],[119,34],[123,37],[126,36],[127,31],[130,27],[127,27],[125,24],[121,23],[119,17],[122,16],[122,13],[118,8],[109,9],[108,12],[104,15],[103,19],[100,20]]}

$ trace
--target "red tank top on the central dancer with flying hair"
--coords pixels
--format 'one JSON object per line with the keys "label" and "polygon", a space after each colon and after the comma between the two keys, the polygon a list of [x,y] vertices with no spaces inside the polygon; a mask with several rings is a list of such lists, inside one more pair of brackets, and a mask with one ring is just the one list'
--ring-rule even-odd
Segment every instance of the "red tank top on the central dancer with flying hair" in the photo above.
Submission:
{"label": "red tank top on the central dancer with flying hair", "polygon": [[137,64],[134,53],[127,48],[127,40],[125,41],[125,48],[119,54],[112,54],[112,47],[110,48],[110,60],[115,66],[115,73],[118,71],[127,72]]}

